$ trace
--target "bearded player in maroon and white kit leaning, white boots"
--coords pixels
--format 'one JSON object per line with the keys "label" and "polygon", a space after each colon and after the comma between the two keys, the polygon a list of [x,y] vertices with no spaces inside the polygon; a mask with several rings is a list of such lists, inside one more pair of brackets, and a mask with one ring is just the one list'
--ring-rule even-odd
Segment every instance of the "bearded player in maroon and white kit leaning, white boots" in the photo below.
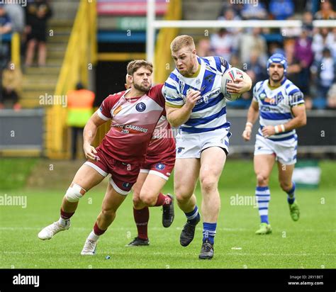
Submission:
{"label": "bearded player in maroon and white kit leaning, white boots", "polygon": [[[157,121],[164,111],[162,84],[152,86],[152,64],[135,60],[127,67],[131,88],[108,96],[84,128],[84,153],[88,159],[79,168],[62,201],[60,219],[38,234],[41,240],[70,227],[79,199],[111,174],[94,230],[81,254],[95,254],[97,241],[113,222],[116,210],[138,178],[140,164]],[[111,120],[111,128],[96,149],[91,146],[99,125]]]}

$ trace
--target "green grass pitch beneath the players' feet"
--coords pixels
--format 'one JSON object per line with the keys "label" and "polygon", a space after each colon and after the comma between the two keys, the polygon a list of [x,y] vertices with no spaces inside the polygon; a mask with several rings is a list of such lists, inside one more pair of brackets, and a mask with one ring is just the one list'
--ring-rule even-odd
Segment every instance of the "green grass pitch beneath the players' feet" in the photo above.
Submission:
{"label": "green grass pitch beneath the players' feet", "polygon": [[[6,165],[15,167],[14,164]],[[162,227],[161,208],[150,208],[149,247],[125,247],[137,235],[131,195],[118,210],[116,220],[106,234],[101,236],[96,256],[82,257],[80,252],[99,214],[107,180],[101,183],[103,187],[96,187],[82,198],[71,228],[46,241],[38,239],[38,232],[59,218],[67,185],[60,186],[55,181],[49,189],[0,191],[0,196],[6,193],[7,196],[27,198],[26,208],[0,206],[0,268],[335,268],[336,163],[320,162],[320,167],[322,181],[319,189],[296,191],[301,208],[298,222],[290,218],[286,193],[277,183],[274,168],[269,206],[273,232],[258,236],[254,235],[259,226],[258,210],[245,200],[247,196],[254,197],[252,162],[228,159],[219,184],[222,208],[215,237],[215,256],[211,261],[198,260],[201,223],[188,247],[179,244],[181,227],[186,219],[177,205],[170,228]],[[8,171],[2,168],[2,177],[4,170],[5,173]],[[70,182],[74,174],[68,175]],[[172,179],[164,191],[173,192]],[[199,188],[196,195],[200,206]],[[239,201],[235,198],[245,204],[237,206]],[[106,259],[108,255],[110,259]]]}

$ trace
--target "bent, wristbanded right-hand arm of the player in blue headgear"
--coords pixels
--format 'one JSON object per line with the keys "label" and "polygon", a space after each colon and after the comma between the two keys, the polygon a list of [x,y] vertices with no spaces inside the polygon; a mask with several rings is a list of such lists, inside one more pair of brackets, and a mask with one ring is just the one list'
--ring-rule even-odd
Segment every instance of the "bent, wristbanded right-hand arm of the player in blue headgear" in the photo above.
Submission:
{"label": "bent, wristbanded right-hand arm of the player in blue headgear", "polygon": [[307,123],[306,116],[306,106],[304,103],[298,104],[297,106],[292,106],[291,112],[294,118],[289,120],[287,123],[281,125],[268,125],[262,129],[262,134],[264,137],[268,137],[274,134],[288,132],[290,130],[300,128]]}

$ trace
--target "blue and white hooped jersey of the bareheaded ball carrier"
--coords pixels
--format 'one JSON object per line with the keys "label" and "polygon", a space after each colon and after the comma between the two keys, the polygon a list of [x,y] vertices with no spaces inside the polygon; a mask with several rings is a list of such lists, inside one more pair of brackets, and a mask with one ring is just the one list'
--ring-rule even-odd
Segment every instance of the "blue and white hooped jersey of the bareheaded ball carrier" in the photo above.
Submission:
{"label": "blue and white hooped jersey of the bareheaded ball carrier", "polygon": [[201,91],[201,99],[191,112],[189,120],[180,129],[186,133],[204,133],[220,128],[230,128],[226,120],[226,102],[221,89],[223,73],[230,64],[223,57],[197,57],[198,72],[195,77],[184,77],[177,68],[164,83],[167,106],[181,108],[186,102],[188,89]]}

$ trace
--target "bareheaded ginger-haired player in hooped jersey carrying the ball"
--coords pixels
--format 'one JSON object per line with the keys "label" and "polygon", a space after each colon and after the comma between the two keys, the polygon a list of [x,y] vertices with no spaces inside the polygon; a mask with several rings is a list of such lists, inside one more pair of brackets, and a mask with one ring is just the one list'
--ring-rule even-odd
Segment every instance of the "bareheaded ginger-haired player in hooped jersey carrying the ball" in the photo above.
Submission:
{"label": "bareheaded ginger-haired player in hooped jersey carrying the ball", "polygon": [[[176,68],[164,84],[164,96],[169,123],[180,127],[174,192],[187,218],[180,243],[184,247],[189,245],[201,220],[194,195],[199,176],[203,196],[203,244],[198,258],[211,259],[220,210],[218,180],[231,135],[221,90],[222,75],[230,64],[221,57],[198,57],[189,35],[178,36],[170,47]],[[242,94],[251,89],[252,81],[247,74],[236,82],[228,85],[229,92]]]}

